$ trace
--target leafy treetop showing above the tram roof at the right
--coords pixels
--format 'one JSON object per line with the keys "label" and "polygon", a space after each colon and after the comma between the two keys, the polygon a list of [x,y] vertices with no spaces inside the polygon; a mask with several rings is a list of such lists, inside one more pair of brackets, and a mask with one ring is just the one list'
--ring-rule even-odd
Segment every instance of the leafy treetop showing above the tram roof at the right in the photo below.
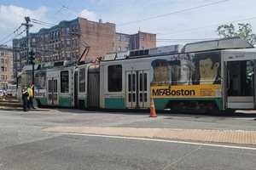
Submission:
{"label": "leafy treetop showing above the tram roof at the right", "polygon": [[233,24],[218,26],[217,32],[220,37],[241,37],[242,39],[250,42],[251,44],[256,43],[256,35],[253,34],[253,27],[246,23],[237,24],[238,29]]}

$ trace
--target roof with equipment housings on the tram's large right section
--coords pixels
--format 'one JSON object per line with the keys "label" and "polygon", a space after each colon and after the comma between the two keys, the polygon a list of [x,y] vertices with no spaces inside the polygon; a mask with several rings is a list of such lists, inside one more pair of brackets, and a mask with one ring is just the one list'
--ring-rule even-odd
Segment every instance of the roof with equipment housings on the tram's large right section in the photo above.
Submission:
{"label": "roof with equipment housings on the tram's large right section", "polygon": [[203,42],[191,42],[183,45],[171,45],[163,46],[158,48],[139,49],[131,50],[120,53],[111,53],[103,57],[102,61],[113,61],[123,59],[139,59],[156,57],[168,54],[188,54],[188,53],[199,53],[214,50],[227,50],[227,49],[254,49],[253,45],[249,42],[241,39],[240,37],[229,37],[222,39],[215,39],[211,41]]}

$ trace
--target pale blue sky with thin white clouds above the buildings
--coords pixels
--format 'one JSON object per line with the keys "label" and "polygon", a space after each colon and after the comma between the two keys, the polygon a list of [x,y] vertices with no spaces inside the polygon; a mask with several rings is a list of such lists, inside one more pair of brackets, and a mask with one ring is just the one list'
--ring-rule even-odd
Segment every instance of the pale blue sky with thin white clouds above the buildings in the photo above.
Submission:
{"label": "pale blue sky with thin white clouds above the buildings", "polygon": [[[119,32],[156,33],[158,46],[218,38],[219,25],[238,21],[251,24],[256,33],[255,7],[255,0],[0,0],[0,44],[11,45],[12,37],[5,37],[24,22],[25,15],[52,24],[78,16],[102,19],[115,23]],[[40,28],[34,24],[32,31]]]}

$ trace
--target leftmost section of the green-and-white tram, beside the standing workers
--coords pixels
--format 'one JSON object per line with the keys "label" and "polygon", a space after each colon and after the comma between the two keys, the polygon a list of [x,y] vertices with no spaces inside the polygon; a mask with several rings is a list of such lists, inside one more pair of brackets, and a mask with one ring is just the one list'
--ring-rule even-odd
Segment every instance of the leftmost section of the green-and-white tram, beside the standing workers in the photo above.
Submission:
{"label": "leftmost section of the green-and-white tram, beside the standing workers", "polygon": [[[73,107],[75,66],[67,61],[35,65],[35,99],[38,106]],[[26,65],[18,77],[18,87],[32,83],[32,66]]]}

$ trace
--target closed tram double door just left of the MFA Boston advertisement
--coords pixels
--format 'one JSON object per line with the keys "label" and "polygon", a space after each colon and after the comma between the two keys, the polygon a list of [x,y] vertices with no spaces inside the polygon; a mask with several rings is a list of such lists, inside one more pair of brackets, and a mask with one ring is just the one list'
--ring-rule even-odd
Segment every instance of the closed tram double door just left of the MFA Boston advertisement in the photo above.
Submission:
{"label": "closed tram double door just left of the MFA Boston advertisement", "polygon": [[126,107],[131,109],[149,107],[149,71],[126,72]]}

